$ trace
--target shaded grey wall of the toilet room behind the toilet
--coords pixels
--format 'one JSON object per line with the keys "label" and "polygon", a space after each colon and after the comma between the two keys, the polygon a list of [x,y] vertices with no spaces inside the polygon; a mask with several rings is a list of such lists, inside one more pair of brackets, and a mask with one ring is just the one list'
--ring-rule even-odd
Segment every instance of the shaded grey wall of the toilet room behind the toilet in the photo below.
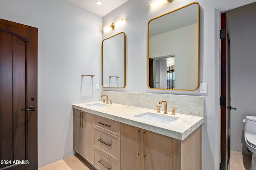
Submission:
{"label": "shaded grey wall of the toilet room behind the toilet", "polygon": [[246,115],[256,116],[256,3],[227,12],[230,26],[231,64],[231,149],[246,153],[243,147]]}

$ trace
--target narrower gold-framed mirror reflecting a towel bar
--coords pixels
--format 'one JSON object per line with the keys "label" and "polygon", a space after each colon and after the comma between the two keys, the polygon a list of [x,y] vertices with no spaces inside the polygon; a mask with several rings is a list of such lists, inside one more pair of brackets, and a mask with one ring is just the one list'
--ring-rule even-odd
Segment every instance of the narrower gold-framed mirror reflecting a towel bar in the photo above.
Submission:
{"label": "narrower gold-framed mirror reflecting a towel bar", "polygon": [[102,86],[125,87],[125,33],[121,32],[102,41]]}

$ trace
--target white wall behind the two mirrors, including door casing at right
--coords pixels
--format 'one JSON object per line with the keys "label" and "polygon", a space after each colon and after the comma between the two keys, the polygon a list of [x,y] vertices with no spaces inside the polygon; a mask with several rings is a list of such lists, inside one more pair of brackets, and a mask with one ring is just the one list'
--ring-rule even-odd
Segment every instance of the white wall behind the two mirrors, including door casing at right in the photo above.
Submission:
{"label": "white wall behind the two mirrors, including door casing at right", "polygon": [[[202,145],[203,170],[219,169],[219,68],[218,68],[218,23],[215,12],[228,4],[249,0],[198,0],[200,4],[200,82],[208,83],[208,94],[204,96],[204,124]],[[202,95],[195,91],[151,90],[147,87],[147,24],[156,16],[194,2],[194,0],[173,0],[158,8],[148,8],[154,0],[129,0],[103,17],[103,27],[122,18],[126,24],[103,33],[103,38],[124,31],[127,37],[126,80],[124,92],[147,92],[164,94]],[[254,1],[255,2],[255,1]],[[105,89],[104,89],[105,90]],[[106,89],[109,90],[109,89]],[[112,89],[114,90],[114,89]],[[120,89],[116,91],[121,91]]]}

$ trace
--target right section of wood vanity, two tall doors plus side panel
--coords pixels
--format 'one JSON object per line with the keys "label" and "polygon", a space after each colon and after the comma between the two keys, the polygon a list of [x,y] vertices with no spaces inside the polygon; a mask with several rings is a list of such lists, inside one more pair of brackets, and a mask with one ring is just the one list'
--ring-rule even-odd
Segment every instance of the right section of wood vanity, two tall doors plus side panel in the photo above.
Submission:
{"label": "right section of wood vanity, two tall doors plus side panel", "polygon": [[200,170],[200,128],[180,141],[120,123],[120,169]]}

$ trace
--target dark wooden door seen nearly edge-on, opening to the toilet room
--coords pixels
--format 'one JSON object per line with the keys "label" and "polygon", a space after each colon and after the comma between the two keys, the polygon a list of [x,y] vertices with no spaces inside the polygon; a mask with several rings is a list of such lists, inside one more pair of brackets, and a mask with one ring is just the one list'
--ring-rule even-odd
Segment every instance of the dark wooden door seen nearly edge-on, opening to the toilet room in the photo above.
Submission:
{"label": "dark wooden door seen nearly edge-on, opening to the toilet room", "polygon": [[226,13],[221,14],[220,42],[220,170],[230,169],[230,31]]}

